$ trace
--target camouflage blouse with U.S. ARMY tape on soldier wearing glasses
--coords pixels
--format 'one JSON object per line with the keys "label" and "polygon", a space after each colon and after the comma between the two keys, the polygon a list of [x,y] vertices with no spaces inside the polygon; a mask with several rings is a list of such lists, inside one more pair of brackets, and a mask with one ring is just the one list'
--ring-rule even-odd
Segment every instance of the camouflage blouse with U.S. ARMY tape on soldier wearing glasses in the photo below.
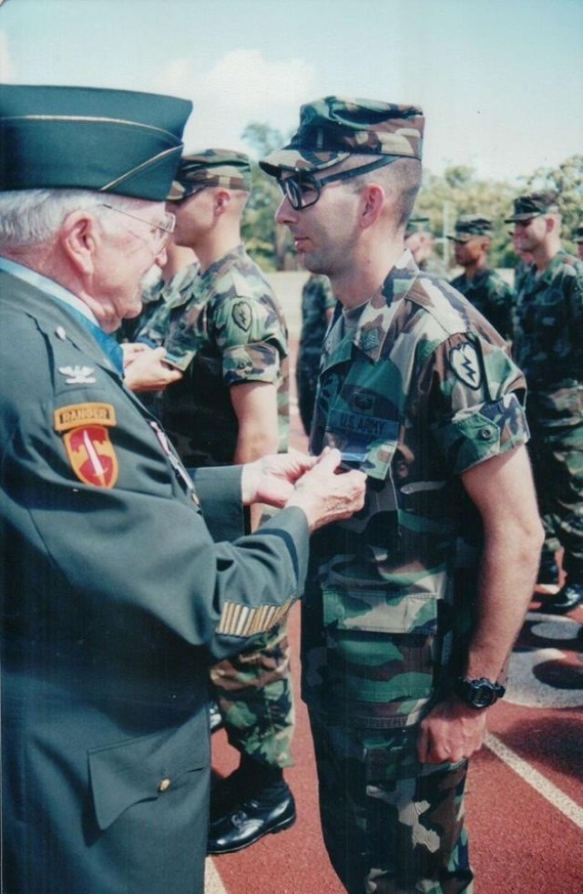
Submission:
{"label": "camouflage blouse with U.S. ARMY tape on soldier wearing glasses", "polygon": [[[460,475],[527,440],[506,344],[404,252],[353,331],[324,342],[311,448],[368,475],[352,519],[312,537],[302,694],[328,724],[418,722],[451,649]],[[504,495],[500,495],[502,500]]]}

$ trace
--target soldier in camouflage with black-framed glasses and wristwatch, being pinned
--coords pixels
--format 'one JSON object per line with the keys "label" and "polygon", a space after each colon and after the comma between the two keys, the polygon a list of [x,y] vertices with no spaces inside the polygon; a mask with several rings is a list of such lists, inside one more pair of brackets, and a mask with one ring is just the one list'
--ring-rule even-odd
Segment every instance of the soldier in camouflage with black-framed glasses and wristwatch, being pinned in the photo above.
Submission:
{"label": "soldier in camouflage with black-framed glasses and wristwatch, being pinned", "polygon": [[[416,107],[328,97],[260,162],[283,192],[276,220],[342,305],[311,449],[335,445],[368,477],[364,509],[312,540],[302,603],[323,835],[350,894],[472,890],[466,762],[504,694],[542,540],[524,378],[471,304],[404,251],[423,127]],[[460,650],[464,494],[485,539]]]}

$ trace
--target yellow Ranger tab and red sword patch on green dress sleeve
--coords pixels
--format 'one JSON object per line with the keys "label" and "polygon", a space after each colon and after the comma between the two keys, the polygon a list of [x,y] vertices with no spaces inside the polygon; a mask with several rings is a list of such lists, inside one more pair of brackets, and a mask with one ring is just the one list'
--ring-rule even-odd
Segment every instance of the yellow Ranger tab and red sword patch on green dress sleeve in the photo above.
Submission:
{"label": "yellow Ranger tab and red sword patch on green dress sleeve", "polygon": [[118,457],[108,431],[115,425],[111,404],[71,404],[55,411],[55,430],[65,433],[66,456],[84,484],[113,488],[118,480]]}

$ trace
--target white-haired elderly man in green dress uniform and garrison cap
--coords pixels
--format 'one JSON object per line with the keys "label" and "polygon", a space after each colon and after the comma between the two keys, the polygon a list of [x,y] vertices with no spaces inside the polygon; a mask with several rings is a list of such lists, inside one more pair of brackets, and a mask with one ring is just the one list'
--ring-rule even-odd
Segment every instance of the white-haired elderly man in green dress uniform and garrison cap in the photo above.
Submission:
{"label": "white-haired elderly man in green dress uniform and garrison cap", "polygon": [[[362,505],[360,478],[335,474],[337,452],[194,482],[123,383],[109,333],[139,313],[140,281],[165,260],[189,110],[150,94],[0,87],[10,894],[200,894],[209,665],[281,621],[310,530]],[[284,508],[242,536],[241,501]]]}

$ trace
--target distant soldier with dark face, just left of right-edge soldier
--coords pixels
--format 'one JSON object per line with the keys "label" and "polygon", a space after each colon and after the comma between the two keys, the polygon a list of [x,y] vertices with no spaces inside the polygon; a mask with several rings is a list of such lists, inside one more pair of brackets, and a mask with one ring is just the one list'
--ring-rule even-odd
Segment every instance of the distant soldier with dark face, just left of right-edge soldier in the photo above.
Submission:
{"label": "distant soldier with dark face, just left of right-edge soldier", "polygon": [[464,268],[451,281],[453,287],[482,313],[506,338],[512,340],[514,292],[499,273],[488,267],[492,244],[492,221],[481,214],[462,214],[455,221],[455,262]]}

